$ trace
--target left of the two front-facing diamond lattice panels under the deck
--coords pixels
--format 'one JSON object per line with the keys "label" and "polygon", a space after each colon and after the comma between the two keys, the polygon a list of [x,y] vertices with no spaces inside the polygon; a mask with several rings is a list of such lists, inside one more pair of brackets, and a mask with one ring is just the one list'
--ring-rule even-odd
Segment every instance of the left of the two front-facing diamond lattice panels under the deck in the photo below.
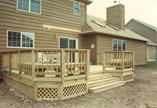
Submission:
{"label": "left of the two front-facing diamond lattice panels under the deck", "polygon": [[58,99],[58,88],[38,88],[37,97]]}

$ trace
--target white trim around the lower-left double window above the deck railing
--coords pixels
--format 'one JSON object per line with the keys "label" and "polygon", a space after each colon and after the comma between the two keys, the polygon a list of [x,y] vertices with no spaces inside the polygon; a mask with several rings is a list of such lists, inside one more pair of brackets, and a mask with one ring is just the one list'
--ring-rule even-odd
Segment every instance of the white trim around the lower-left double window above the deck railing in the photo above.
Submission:
{"label": "white trim around the lower-left double window above the deck railing", "polygon": [[21,33],[21,35],[22,35],[22,33],[31,33],[31,32],[21,32],[21,31],[16,31],[16,30],[7,30],[7,38],[6,38],[6,42],[7,42],[7,44],[6,44],[6,47],[7,48],[29,48],[29,49],[34,49],[35,48],[35,33],[32,33],[33,35],[34,35],[34,40],[33,40],[33,47],[22,47],[22,38],[21,38],[21,44],[20,44],[20,47],[13,47],[13,46],[8,46],[8,31],[13,31],[13,32],[20,32]]}

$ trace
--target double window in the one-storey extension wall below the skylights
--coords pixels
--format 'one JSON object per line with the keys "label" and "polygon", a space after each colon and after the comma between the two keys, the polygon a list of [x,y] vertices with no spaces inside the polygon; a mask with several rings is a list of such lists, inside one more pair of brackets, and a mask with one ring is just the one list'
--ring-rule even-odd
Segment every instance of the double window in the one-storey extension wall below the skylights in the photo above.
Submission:
{"label": "double window in the one-storey extension wall below the skylights", "polygon": [[113,51],[126,51],[126,41],[113,39]]}

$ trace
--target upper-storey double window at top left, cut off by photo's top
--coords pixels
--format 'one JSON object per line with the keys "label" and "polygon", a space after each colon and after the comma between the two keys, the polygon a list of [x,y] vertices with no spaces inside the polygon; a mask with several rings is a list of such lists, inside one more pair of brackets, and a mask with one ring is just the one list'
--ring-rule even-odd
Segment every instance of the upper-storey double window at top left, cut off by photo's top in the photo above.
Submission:
{"label": "upper-storey double window at top left, cut off by photo's top", "polygon": [[40,14],[40,0],[18,0],[18,9]]}

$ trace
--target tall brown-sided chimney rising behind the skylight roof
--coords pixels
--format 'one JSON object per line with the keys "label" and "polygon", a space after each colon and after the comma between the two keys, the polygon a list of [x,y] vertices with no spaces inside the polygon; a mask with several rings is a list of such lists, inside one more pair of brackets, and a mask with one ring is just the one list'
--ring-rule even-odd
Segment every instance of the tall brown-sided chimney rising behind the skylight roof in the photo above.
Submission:
{"label": "tall brown-sided chimney rising behind the skylight roof", "polygon": [[106,9],[107,24],[120,30],[125,30],[125,7],[122,4],[108,7]]}

